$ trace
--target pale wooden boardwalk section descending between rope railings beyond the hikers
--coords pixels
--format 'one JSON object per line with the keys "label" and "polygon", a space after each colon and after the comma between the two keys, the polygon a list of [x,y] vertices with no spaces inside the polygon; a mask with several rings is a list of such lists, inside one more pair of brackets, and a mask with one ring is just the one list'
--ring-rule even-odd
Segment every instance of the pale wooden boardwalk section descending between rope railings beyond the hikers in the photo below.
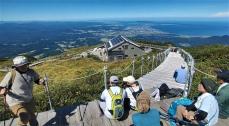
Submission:
{"label": "pale wooden boardwalk section descending between rope railings beyond the hikers", "polygon": [[181,64],[187,64],[180,54],[170,52],[167,58],[162,62],[155,70],[138,79],[144,89],[152,89],[153,87],[159,87],[162,83],[166,83],[169,88],[185,88],[185,84],[177,83],[173,79],[173,74],[177,68],[181,67]]}

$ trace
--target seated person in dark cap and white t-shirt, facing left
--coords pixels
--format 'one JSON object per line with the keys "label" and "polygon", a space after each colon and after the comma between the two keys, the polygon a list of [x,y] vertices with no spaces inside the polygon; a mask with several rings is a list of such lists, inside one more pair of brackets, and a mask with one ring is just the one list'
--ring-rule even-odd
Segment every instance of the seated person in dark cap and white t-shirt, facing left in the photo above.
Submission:
{"label": "seated person in dark cap and white t-shirt, facing left", "polygon": [[179,121],[187,120],[191,124],[198,125],[201,121],[213,126],[218,121],[219,107],[215,97],[211,94],[215,89],[213,80],[203,78],[198,85],[200,96],[191,105],[177,106],[175,118]]}

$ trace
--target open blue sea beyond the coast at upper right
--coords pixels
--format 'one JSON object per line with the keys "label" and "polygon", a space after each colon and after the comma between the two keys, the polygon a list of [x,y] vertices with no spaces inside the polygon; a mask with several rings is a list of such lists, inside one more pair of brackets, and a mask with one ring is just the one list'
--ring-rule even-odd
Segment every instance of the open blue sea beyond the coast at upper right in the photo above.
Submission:
{"label": "open blue sea beyond the coast at upper right", "polygon": [[229,21],[158,22],[154,28],[169,33],[188,36],[229,35]]}

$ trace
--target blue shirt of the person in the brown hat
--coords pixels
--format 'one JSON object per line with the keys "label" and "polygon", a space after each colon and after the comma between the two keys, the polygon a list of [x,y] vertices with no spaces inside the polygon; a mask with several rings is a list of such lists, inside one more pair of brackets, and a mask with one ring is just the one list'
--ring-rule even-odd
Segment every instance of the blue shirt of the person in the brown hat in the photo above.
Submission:
{"label": "blue shirt of the person in the brown hat", "polygon": [[132,115],[134,126],[160,126],[158,110],[150,109],[147,113],[135,113]]}

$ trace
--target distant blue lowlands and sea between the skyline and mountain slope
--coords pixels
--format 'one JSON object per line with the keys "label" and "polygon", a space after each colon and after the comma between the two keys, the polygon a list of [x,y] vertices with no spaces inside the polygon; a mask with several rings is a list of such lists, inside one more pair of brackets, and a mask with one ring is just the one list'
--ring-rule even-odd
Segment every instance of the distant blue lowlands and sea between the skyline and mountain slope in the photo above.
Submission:
{"label": "distant blue lowlands and sea between the skyline and mountain slope", "polygon": [[42,58],[117,35],[176,46],[229,45],[229,21],[0,22],[0,58]]}

